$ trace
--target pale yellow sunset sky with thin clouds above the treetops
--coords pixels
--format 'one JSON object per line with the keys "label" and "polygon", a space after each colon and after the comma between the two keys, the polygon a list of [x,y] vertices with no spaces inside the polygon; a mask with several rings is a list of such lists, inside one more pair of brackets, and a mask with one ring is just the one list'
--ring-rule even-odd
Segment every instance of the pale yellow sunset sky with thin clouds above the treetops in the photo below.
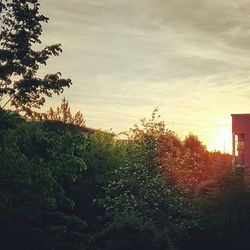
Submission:
{"label": "pale yellow sunset sky with thin clouds above the treetops", "polygon": [[41,73],[72,79],[63,96],[87,126],[125,131],[158,107],[181,138],[231,151],[231,114],[250,113],[249,0],[42,0],[41,13],[43,45],[63,48]]}

